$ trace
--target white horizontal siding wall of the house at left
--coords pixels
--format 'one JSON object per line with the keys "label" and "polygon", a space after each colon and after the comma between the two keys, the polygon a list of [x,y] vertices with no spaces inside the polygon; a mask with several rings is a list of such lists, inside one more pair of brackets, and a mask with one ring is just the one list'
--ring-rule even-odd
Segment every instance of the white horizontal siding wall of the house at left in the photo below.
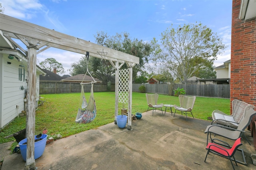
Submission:
{"label": "white horizontal siding wall of the house at left", "polygon": [[[24,97],[27,89],[26,81],[19,80],[19,65],[24,65],[18,62],[16,59],[8,59],[7,57],[1,56],[2,60],[2,101],[1,101],[1,128],[7,125],[15,117],[18,116],[21,111],[24,111]],[[10,61],[11,64],[7,62]],[[25,79],[28,76],[27,66],[25,68]],[[21,90],[21,87],[24,90]],[[17,108],[18,107],[18,108]]]}

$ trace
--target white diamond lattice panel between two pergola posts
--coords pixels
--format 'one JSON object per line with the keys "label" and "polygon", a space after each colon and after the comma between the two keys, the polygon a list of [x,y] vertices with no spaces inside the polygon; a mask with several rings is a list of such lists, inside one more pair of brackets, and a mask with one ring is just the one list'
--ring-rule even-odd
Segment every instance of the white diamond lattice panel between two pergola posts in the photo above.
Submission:
{"label": "white diamond lattice panel between two pergola posts", "polygon": [[119,70],[118,76],[118,102],[128,103],[129,69]]}

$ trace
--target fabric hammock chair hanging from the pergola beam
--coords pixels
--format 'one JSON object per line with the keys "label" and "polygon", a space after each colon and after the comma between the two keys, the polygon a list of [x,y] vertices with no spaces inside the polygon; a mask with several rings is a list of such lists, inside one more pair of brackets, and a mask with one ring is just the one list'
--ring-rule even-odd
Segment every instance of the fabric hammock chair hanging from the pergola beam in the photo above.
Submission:
{"label": "fabric hammock chair hanging from the pergola beam", "polygon": [[[87,57],[87,61],[88,61],[89,53],[86,53],[86,57]],[[84,77],[86,76],[87,73],[89,73],[89,75],[92,77],[92,75],[88,71],[88,67],[87,67],[86,73],[84,74]],[[92,77],[92,79],[94,80],[93,77]],[[96,83],[96,81],[94,80],[90,83],[83,83],[83,81],[84,81],[84,78],[82,80],[82,83],[80,83],[82,86],[81,87],[82,105],[81,105],[81,109],[78,108],[78,113],[76,115],[76,123],[90,123],[96,117],[96,105],[95,105],[95,100],[94,100],[94,95],[93,95],[93,85],[94,85],[94,83]],[[92,85],[88,103],[87,103],[85,95],[84,95],[84,84]]]}

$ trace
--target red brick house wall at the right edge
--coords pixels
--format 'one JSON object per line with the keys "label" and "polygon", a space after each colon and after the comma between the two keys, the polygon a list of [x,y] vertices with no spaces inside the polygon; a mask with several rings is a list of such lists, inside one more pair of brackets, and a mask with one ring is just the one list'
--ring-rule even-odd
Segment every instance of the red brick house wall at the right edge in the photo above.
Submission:
{"label": "red brick house wall at the right edge", "polygon": [[256,18],[240,20],[240,3],[232,4],[230,101],[256,106]]}

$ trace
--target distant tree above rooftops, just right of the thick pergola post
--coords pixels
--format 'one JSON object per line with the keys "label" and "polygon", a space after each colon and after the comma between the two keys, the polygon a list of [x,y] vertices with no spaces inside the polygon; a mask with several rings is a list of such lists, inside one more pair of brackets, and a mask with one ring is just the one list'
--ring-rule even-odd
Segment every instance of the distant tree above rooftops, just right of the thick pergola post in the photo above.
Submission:
{"label": "distant tree above rooftops, just right of the thick pergola post", "polygon": [[44,61],[40,62],[39,65],[43,69],[47,69],[49,71],[53,71],[53,69],[56,68],[57,73],[64,73],[62,63],[59,63],[54,58],[47,58]]}

